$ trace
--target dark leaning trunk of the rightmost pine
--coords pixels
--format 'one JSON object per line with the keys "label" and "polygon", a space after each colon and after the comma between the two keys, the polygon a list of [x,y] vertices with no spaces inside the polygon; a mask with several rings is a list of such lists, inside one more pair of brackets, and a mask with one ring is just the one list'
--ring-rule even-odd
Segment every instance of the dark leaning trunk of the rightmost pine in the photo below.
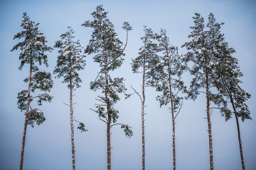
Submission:
{"label": "dark leaning trunk of the rightmost pine", "polygon": [[241,162],[242,162],[243,170],[245,170],[245,161],[244,161],[244,156],[243,156],[243,148],[242,148],[242,141],[241,141],[241,136],[240,136],[240,127],[239,127],[239,122],[238,122],[238,116],[236,114],[236,107],[234,105],[233,97],[231,95],[229,87],[227,86],[227,83],[225,82],[225,79],[223,77],[221,77],[221,78],[222,78],[222,83],[225,85],[225,88],[226,88],[226,90],[227,90],[227,92],[229,94],[229,99],[230,99],[230,102],[232,104],[232,107],[233,107],[233,110],[234,110],[234,114],[235,114],[235,117],[236,117],[238,142],[239,142],[239,147],[240,147],[240,157],[241,157]]}

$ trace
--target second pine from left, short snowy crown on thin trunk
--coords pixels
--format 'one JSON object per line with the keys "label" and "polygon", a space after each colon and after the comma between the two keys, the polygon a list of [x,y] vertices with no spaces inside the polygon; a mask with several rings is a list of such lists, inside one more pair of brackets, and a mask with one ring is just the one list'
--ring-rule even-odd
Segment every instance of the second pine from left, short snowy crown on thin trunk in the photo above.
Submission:
{"label": "second pine from left, short snowy crown on thin trunk", "polygon": [[[54,74],[57,74],[56,77],[63,77],[64,80],[62,83],[68,83],[67,88],[70,89],[70,126],[71,126],[71,143],[72,143],[72,165],[73,170],[75,170],[75,146],[74,146],[74,124],[73,122],[77,120],[74,119],[73,113],[73,90],[79,88],[79,83],[82,82],[81,78],[77,71],[83,70],[85,66],[85,60],[83,59],[85,55],[81,55],[81,45],[79,40],[74,41],[74,32],[71,27],[67,27],[68,31],[64,34],[61,34],[61,40],[55,42],[54,47],[60,48],[58,50],[59,56],[57,60],[57,65],[54,70]],[[56,78],[55,77],[55,78]],[[65,104],[67,105],[67,104]],[[87,131],[85,125],[79,122],[79,127],[81,131]]]}

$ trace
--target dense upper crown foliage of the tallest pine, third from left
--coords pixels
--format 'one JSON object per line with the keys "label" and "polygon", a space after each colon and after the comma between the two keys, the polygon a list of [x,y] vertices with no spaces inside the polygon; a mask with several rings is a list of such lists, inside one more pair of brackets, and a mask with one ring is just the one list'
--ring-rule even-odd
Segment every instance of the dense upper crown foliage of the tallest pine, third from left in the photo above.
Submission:
{"label": "dense upper crown foliage of the tallest pine, third from left", "polygon": [[[123,43],[117,38],[114,25],[108,20],[107,13],[104,11],[102,5],[98,6],[96,11],[91,14],[94,20],[88,20],[82,26],[94,29],[89,45],[86,46],[85,53],[96,54],[93,57],[94,62],[100,65],[107,64],[107,71],[109,71],[121,66],[124,60],[122,57],[125,54],[123,53],[124,48],[121,48]],[[124,22],[123,28],[127,32],[132,29],[128,22]]]}

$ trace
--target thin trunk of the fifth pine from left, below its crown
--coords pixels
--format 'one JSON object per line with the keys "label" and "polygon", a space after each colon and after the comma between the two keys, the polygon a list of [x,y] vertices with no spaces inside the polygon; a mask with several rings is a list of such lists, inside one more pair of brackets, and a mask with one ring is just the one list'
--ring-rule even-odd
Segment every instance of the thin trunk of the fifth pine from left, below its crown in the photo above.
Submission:
{"label": "thin trunk of the fifth pine from left, below its crown", "polygon": [[[168,65],[169,68],[169,65]],[[168,69],[168,81],[169,81],[169,89],[170,89],[170,98],[171,98],[171,113],[172,113],[172,122],[173,122],[173,170],[176,170],[176,157],[175,157],[175,120],[174,120],[174,110],[173,110],[173,95],[171,90],[171,73]]]}

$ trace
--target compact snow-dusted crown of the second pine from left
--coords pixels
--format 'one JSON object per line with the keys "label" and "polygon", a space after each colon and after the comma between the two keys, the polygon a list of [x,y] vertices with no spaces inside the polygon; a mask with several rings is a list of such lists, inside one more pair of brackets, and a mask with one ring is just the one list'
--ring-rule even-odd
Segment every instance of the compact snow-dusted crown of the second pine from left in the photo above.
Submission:
{"label": "compact snow-dusted crown of the second pine from left", "polygon": [[57,65],[54,70],[56,77],[63,77],[63,83],[68,83],[67,87],[70,88],[70,76],[72,80],[72,89],[80,87],[81,78],[77,71],[83,70],[85,66],[85,55],[82,55],[82,48],[79,40],[74,41],[74,32],[70,27],[69,31],[61,34],[61,40],[55,42],[54,47],[60,48],[58,50],[59,56]]}

